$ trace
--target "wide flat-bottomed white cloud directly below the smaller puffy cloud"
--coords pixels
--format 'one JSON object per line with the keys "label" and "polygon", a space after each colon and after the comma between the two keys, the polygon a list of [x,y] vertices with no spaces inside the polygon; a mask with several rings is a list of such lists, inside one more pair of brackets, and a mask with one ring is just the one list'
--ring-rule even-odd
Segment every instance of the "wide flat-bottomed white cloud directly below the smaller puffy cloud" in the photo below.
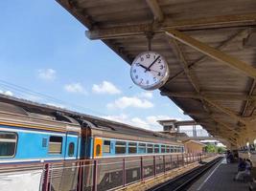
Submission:
{"label": "wide flat-bottomed white cloud directly below the smaller puffy cloud", "polygon": [[106,107],[108,109],[112,109],[112,108],[125,109],[128,107],[148,109],[148,108],[152,108],[153,104],[151,103],[151,101],[147,99],[140,99],[136,96],[130,96],[130,97],[122,96],[116,99],[114,102],[108,103]]}

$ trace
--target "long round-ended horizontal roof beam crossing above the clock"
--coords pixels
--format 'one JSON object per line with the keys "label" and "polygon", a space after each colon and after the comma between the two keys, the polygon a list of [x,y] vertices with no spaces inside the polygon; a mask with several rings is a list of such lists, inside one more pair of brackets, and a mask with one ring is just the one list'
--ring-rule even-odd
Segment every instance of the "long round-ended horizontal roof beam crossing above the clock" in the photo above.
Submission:
{"label": "long round-ended horizontal roof beam crossing above the clock", "polygon": [[164,22],[159,25],[141,24],[129,25],[108,29],[95,29],[86,31],[85,34],[89,39],[112,39],[121,37],[130,37],[134,35],[145,35],[145,32],[163,33],[166,30],[190,31],[217,29],[226,27],[245,27],[256,25],[256,12],[239,14],[239,15],[222,15],[214,17],[202,17],[198,19],[174,20],[173,18],[165,18]]}

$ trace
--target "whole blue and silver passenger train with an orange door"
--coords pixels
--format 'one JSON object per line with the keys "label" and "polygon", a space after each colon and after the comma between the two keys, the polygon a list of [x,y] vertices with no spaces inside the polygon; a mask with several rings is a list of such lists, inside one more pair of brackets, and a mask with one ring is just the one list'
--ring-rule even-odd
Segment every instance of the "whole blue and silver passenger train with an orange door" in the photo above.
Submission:
{"label": "whole blue and silver passenger train with an orange door", "polygon": [[[45,164],[52,168],[51,190],[76,190],[79,161],[88,167],[82,171],[83,190],[90,190],[95,173],[91,161],[95,159],[101,171],[98,190],[106,190],[122,181],[122,159],[128,162],[127,180],[131,182],[141,176],[137,165],[141,157],[158,156],[157,162],[165,155],[183,153],[181,142],[161,133],[10,96],[0,97],[0,186],[4,191],[19,190],[28,182],[32,190],[41,189]],[[151,164],[145,162],[145,176],[152,173]]]}

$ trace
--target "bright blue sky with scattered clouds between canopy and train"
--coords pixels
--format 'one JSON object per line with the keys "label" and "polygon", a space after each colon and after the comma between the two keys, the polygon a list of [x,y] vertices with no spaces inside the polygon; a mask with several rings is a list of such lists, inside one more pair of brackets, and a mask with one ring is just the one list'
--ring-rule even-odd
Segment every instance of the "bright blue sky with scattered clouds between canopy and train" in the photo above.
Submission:
{"label": "bright blue sky with scattered clouds between canopy and train", "polygon": [[88,40],[85,27],[56,1],[0,7],[0,93],[151,130],[161,129],[156,119],[189,118],[158,90],[133,85],[129,65],[101,41]]}

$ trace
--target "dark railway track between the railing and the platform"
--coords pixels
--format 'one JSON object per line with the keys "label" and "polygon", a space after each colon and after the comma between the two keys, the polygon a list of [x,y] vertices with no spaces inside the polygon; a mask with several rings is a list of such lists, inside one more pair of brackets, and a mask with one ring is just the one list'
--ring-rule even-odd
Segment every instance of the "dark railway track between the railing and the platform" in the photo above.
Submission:
{"label": "dark railway track between the railing and the platform", "polygon": [[156,185],[148,191],[184,191],[187,190],[199,177],[208,171],[217,162],[221,161],[222,157],[214,159],[208,163],[198,166],[196,169],[190,170],[175,179],[166,181],[162,184]]}

